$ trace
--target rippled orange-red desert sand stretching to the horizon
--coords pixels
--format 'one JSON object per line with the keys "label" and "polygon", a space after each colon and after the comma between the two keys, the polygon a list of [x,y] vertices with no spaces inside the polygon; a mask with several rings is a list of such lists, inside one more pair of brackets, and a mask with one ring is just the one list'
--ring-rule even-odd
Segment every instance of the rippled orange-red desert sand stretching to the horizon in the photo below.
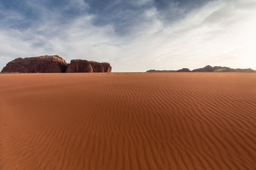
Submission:
{"label": "rippled orange-red desert sand stretching to the horizon", "polygon": [[0,74],[0,169],[255,167],[255,73]]}

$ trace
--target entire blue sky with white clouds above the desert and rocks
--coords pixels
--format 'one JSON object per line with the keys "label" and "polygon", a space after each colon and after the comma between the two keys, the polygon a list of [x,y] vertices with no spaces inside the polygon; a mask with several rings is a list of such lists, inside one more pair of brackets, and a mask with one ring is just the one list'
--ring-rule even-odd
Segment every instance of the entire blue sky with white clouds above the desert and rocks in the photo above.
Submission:
{"label": "entire blue sky with white clouds above the desert and rocks", "polygon": [[0,70],[17,57],[113,72],[256,69],[256,0],[0,0]]}

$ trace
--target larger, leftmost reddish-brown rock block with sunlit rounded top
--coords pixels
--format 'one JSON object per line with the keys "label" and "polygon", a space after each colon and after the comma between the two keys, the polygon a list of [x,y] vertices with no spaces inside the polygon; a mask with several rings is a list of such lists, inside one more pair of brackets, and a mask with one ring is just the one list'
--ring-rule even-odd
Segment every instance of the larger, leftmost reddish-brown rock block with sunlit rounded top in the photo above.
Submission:
{"label": "larger, leftmost reddish-brown rock block with sunlit rounded top", "polygon": [[63,73],[67,62],[58,55],[44,55],[12,60],[3,68],[2,73]]}

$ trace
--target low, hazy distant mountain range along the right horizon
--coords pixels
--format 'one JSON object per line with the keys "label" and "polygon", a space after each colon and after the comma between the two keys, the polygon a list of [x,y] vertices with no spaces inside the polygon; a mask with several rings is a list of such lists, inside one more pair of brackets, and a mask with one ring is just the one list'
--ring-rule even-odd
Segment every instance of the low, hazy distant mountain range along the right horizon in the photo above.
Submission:
{"label": "low, hazy distant mountain range along the right horizon", "polygon": [[146,71],[147,73],[168,73],[168,72],[246,72],[246,73],[250,73],[250,72],[256,72],[253,69],[232,69],[230,67],[221,67],[221,66],[205,66],[199,69],[193,69],[192,71],[190,71],[188,68],[183,68],[183,69],[179,69],[179,70],[154,70],[154,69],[150,69],[148,71]]}

